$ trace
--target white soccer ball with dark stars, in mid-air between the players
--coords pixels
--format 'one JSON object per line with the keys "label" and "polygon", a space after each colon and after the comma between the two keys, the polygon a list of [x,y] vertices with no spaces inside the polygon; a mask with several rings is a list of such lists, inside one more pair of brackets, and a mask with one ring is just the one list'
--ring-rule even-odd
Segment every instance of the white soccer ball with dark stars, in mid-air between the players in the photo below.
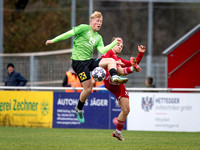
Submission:
{"label": "white soccer ball with dark stars, in mid-air between the players", "polygon": [[102,67],[96,67],[92,71],[92,76],[95,81],[103,81],[106,77],[106,71]]}

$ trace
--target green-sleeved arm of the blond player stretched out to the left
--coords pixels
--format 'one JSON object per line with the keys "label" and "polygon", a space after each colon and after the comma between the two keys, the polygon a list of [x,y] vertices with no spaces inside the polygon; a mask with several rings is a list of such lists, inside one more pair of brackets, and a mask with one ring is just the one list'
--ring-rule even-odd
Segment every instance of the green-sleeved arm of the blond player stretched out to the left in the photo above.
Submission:
{"label": "green-sleeved arm of the blond player stretched out to the left", "polygon": [[68,39],[68,38],[70,38],[70,37],[72,37],[74,35],[75,35],[74,30],[71,29],[71,30],[69,30],[69,31],[67,31],[67,32],[55,37],[52,40],[47,40],[45,44],[49,45],[49,44],[56,43],[56,42],[59,42],[59,41],[62,41],[62,40],[66,40],[66,39]]}

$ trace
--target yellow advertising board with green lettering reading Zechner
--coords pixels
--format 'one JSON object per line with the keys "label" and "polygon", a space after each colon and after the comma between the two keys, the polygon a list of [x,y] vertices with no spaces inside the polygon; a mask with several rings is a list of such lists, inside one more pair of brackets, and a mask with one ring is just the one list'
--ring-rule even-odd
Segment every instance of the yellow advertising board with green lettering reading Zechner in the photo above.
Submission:
{"label": "yellow advertising board with green lettering reading Zechner", "polygon": [[52,127],[53,92],[0,91],[0,125]]}

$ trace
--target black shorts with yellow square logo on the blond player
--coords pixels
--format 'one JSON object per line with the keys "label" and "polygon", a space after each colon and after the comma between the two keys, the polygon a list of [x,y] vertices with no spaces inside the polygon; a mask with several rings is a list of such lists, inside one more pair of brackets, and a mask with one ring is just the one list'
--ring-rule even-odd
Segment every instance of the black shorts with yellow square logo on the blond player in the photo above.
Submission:
{"label": "black shorts with yellow square logo on the blond player", "polygon": [[72,68],[78,75],[80,82],[91,79],[90,71],[99,66],[101,58],[90,59],[85,61],[72,60]]}

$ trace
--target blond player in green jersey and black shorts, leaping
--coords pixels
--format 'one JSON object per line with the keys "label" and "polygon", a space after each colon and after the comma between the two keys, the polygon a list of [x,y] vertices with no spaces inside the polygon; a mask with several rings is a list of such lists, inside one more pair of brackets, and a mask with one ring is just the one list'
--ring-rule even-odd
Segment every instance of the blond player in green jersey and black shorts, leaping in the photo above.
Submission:
{"label": "blond player in green jersey and black shorts, leaping", "polygon": [[104,47],[102,37],[97,33],[100,30],[103,21],[103,16],[100,12],[95,11],[90,16],[90,25],[81,24],[77,27],[73,27],[70,31],[63,33],[52,40],[47,40],[46,45],[68,39],[72,36],[76,36],[73,41],[72,51],[72,68],[79,77],[79,80],[83,86],[83,91],[80,94],[78,105],[75,107],[78,121],[84,123],[83,106],[92,91],[92,81],[90,77],[90,71],[96,67],[108,68],[111,75],[111,81],[113,83],[126,83],[127,78],[117,75],[116,65],[121,64],[116,62],[113,58],[98,58],[93,59],[92,53],[96,48],[100,54],[104,54],[115,45],[120,44],[120,38],[116,38],[111,44]]}

